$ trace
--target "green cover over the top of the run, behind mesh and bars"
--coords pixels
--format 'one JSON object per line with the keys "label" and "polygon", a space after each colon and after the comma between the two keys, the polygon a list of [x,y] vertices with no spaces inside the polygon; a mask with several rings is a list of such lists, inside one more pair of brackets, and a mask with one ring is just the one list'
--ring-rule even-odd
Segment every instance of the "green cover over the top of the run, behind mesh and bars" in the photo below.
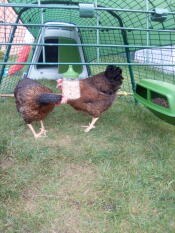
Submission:
{"label": "green cover over the top of the run, behind mesh and bars", "polygon": [[[138,50],[139,46],[148,45],[149,46],[164,46],[175,44],[175,14],[167,14],[168,12],[173,12],[175,10],[174,1],[170,0],[9,0],[9,3],[21,4],[38,4],[40,2],[43,4],[51,4],[50,6],[57,4],[60,6],[74,6],[75,9],[59,9],[55,8],[44,8],[43,9],[43,21],[61,21],[73,23],[79,26],[99,26],[106,27],[99,30],[99,42],[100,44],[115,44],[122,46],[123,44],[129,44],[130,50]],[[80,17],[79,3],[93,3],[97,4],[98,7],[104,7],[103,10],[97,10],[96,17],[93,18],[83,18]],[[110,9],[114,8],[114,10]],[[116,10],[120,9],[120,10]],[[164,9],[165,14],[155,17],[155,9]],[[17,14],[21,11],[21,20],[25,24],[41,24],[41,8],[21,8],[15,7]],[[164,12],[163,10],[163,12]],[[146,13],[149,11],[149,14]],[[162,10],[160,10],[161,12]],[[160,20],[158,19],[160,16]],[[165,17],[165,20],[162,20]],[[162,21],[161,21],[162,20]],[[110,27],[121,27],[123,29],[114,29]],[[36,38],[38,36],[39,27],[28,27],[29,31]],[[149,29],[150,31],[146,31]],[[159,30],[159,31],[155,31]],[[170,30],[170,31],[167,31]],[[123,33],[124,32],[124,33]],[[80,33],[82,37],[82,42],[85,44],[96,44],[97,42],[97,32],[90,28],[80,28]],[[124,35],[125,34],[125,35]],[[124,38],[126,36],[127,38]],[[133,46],[132,46],[133,45]],[[103,55],[108,53],[124,52],[124,47],[101,49]],[[88,50],[90,51],[90,50]],[[90,54],[90,52],[88,52]],[[93,53],[93,51],[91,51]]]}

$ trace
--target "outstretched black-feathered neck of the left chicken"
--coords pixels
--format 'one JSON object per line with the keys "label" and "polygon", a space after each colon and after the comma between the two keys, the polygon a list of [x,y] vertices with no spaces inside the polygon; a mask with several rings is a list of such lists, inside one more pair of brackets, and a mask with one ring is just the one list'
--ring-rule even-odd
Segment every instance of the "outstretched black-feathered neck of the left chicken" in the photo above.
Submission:
{"label": "outstretched black-feathered neck of the left chicken", "polygon": [[59,104],[62,96],[53,93],[43,93],[38,96],[37,101],[39,104]]}

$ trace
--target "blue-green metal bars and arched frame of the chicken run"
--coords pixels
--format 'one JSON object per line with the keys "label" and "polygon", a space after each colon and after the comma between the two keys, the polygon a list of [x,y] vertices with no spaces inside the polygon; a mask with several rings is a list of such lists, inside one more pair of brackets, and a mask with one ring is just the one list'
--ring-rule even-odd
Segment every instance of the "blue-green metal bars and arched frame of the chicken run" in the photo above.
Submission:
{"label": "blue-green metal bars and arched frame of the chicken run", "polygon": [[[146,14],[146,17],[148,18],[148,16],[150,14],[155,13],[154,11],[150,11],[149,7],[148,7],[148,0],[146,1],[146,10],[131,10],[131,9],[120,9],[120,8],[111,8],[111,7],[103,7],[103,6],[99,6],[97,3],[94,4],[94,9],[95,11],[106,11],[108,12],[110,15],[112,15],[114,17],[114,19],[117,20],[117,23],[119,24],[119,27],[111,27],[111,26],[99,26],[98,24],[98,18],[97,18],[97,24],[96,26],[81,26],[81,25],[75,25],[75,27],[77,28],[86,28],[86,29],[96,29],[97,30],[97,35],[98,35],[98,30],[99,29],[115,29],[115,30],[120,30],[121,31],[121,35],[122,35],[122,39],[123,39],[123,45],[117,45],[117,44],[99,44],[98,43],[98,36],[97,36],[97,43],[96,44],[57,44],[58,46],[81,46],[81,47],[96,47],[97,48],[97,53],[98,53],[98,49],[100,47],[110,47],[110,48],[124,48],[125,53],[126,53],[126,63],[110,63],[110,64],[114,64],[114,65],[119,65],[119,66],[128,66],[128,70],[129,70],[129,74],[130,74],[130,78],[131,78],[131,84],[132,84],[132,89],[135,90],[135,81],[134,81],[134,73],[133,73],[133,69],[132,66],[175,66],[175,64],[155,64],[155,63],[132,63],[131,62],[131,57],[130,57],[130,49],[131,48],[156,48],[156,46],[150,46],[149,45],[149,32],[175,32],[175,30],[156,30],[156,29],[150,29],[149,28],[149,23],[147,21],[147,25],[146,28],[132,28],[132,27],[124,27],[122,18],[117,14],[117,12],[134,12],[134,13],[143,13]],[[64,4],[64,5],[63,5]],[[2,80],[2,76],[4,73],[4,69],[6,65],[40,65],[41,63],[32,63],[32,62],[8,62],[9,59],[9,54],[10,54],[10,50],[11,50],[11,46],[12,45],[32,45],[32,46],[53,46],[55,44],[37,44],[37,43],[13,43],[13,37],[15,34],[15,31],[17,29],[17,27],[19,26],[25,26],[25,27],[41,27],[44,28],[45,26],[43,24],[21,24],[19,23],[22,14],[31,9],[31,8],[40,8],[41,11],[43,9],[72,9],[72,10],[79,10],[79,3],[78,2],[64,2],[64,1],[59,1],[59,2],[52,2],[52,1],[39,1],[36,2],[36,4],[16,4],[16,3],[0,3],[0,7],[18,7],[21,8],[20,12],[17,14],[17,18],[16,18],[16,22],[15,23],[0,23],[0,26],[13,26],[13,29],[11,31],[11,34],[9,36],[9,41],[7,43],[0,43],[1,45],[7,45],[7,50],[5,52],[4,55],[4,60],[3,62],[0,62],[0,65],[2,65],[1,68],[1,72],[0,72],[0,83]],[[167,12],[167,15],[175,15],[175,12]],[[49,25],[47,25],[47,27],[49,27]],[[61,27],[61,25],[59,25],[59,27]],[[72,26],[74,27],[74,26]],[[64,26],[65,28],[65,26]],[[70,28],[70,26],[69,26]],[[127,32],[128,30],[133,30],[133,31],[146,31],[147,32],[147,45],[146,46],[140,46],[140,45],[130,45],[128,43],[128,38],[127,38]],[[157,46],[158,47],[158,46]],[[158,47],[160,48],[160,46]],[[166,46],[166,49],[172,49],[171,46]],[[44,65],[44,63],[42,63]],[[58,65],[58,64],[69,64],[69,65],[108,65],[108,63],[104,63],[104,62],[99,62],[99,59],[97,59],[96,63],[47,63],[47,65]]]}

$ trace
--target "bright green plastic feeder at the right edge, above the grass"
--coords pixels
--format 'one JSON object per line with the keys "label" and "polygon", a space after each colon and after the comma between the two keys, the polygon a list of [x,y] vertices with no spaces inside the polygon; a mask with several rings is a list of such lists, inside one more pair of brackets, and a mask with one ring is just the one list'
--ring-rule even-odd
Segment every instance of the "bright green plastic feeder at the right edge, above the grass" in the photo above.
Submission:
{"label": "bright green plastic feeder at the right edge, above the grass", "polygon": [[175,85],[143,79],[136,84],[134,97],[157,117],[175,125]]}

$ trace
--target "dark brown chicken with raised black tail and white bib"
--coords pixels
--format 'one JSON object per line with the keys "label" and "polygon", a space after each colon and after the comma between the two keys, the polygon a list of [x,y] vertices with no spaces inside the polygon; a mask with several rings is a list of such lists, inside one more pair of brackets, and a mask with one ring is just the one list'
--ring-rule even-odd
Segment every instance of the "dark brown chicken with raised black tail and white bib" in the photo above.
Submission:
{"label": "dark brown chicken with raised black tail and white bib", "polygon": [[[95,128],[95,122],[100,115],[112,105],[116,92],[122,85],[122,80],[122,70],[109,65],[104,72],[83,80],[57,80],[57,87],[62,89],[63,102],[67,102],[74,109],[87,112],[93,117],[89,126],[85,126],[85,132],[89,132]],[[72,83],[75,82],[77,84],[73,89]],[[70,95],[70,92],[73,91],[75,97]]]}

